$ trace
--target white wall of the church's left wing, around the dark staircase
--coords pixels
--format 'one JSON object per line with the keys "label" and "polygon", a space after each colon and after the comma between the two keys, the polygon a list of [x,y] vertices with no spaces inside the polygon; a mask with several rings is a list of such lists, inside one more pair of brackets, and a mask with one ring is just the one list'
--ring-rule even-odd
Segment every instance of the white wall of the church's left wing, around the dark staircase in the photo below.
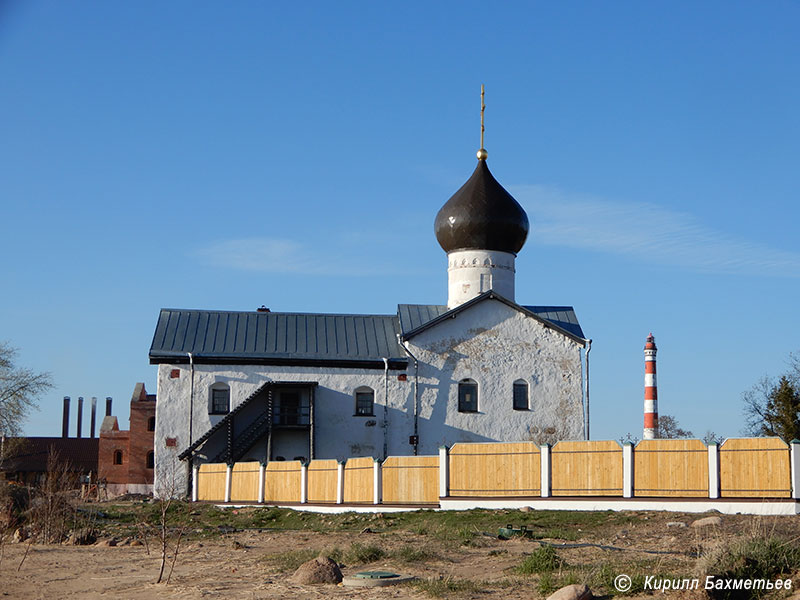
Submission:
{"label": "white wall of the church's left wing, around the dark staircase", "polygon": [[[170,374],[178,369],[180,376]],[[230,386],[231,410],[235,409],[267,381],[317,382],[314,410],[314,446],[316,458],[343,459],[354,456],[382,457],[384,432],[387,435],[389,454],[408,454],[412,382],[398,381],[404,371],[390,370],[388,376],[389,405],[386,411],[388,427],[384,428],[384,371],[382,369],[343,369],[322,367],[288,367],[262,365],[207,365],[194,366],[194,402],[192,440],[197,440],[218,420],[218,415],[208,413],[208,390],[215,383]],[[355,416],[355,390],[368,386],[374,391],[374,416]],[[159,365],[158,401],[156,404],[156,487],[159,478],[166,474],[169,463],[189,444],[189,396],[191,369],[188,365]],[[399,435],[398,432],[404,432]],[[405,436],[405,443],[400,442]],[[293,436],[296,438],[296,436]],[[175,447],[167,447],[167,439],[176,439]],[[295,452],[296,439],[286,440],[286,448],[273,448],[273,456],[282,452]],[[276,441],[277,444],[281,440]],[[175,451],[177,448],[177,452]],[[202,449],[200,450],[202,453]],[[205,458],[213,458],[211,452]],[[297,455],[308,456],[308,451]],[[251,453],[248,453],[251,456]],[[293,458],[295,454],[292,454]],[[252,456],[251,456],[252,457]],[[179,461],[180,462],[180,461]],[[178,477],[185,489],[187,466],[178,464]],[[165,475],[166,476],[166,475]],[[165,482],[161,482],[162,484]],[[163,488],[163,485],[161,486]]]}

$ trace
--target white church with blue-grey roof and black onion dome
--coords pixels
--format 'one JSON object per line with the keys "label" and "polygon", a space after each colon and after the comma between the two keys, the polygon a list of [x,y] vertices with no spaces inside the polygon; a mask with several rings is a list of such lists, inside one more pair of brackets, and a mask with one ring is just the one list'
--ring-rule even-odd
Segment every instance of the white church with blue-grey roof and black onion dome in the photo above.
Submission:
{"label": "white church with blue-grey roof and black onion dome", "polygon": [[582,439],[587,341],[572,307],[518,304],[528,217],[478,151],[436,216],[447,304],[394,314],[162,309],[156,493],[203,462],[436,454]]}

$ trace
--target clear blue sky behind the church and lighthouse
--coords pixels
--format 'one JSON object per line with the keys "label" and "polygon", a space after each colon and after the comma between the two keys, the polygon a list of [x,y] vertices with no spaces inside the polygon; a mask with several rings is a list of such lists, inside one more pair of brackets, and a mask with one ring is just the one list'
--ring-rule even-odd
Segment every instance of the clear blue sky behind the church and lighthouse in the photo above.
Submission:
{"label": "clear blue sky behind the church and lighthouse", "polygon": [[489,166],[533,225],[517,300],[594,340],[592,437],[641,435],[651,331],[660,412],[738,435],[742,392],[798,350],[799,18],[0,0],[0,339],[56,383],[26,432],[59,435],[64,395],[125,426],[162,307],[444,303],[433,219],[483,83]]}

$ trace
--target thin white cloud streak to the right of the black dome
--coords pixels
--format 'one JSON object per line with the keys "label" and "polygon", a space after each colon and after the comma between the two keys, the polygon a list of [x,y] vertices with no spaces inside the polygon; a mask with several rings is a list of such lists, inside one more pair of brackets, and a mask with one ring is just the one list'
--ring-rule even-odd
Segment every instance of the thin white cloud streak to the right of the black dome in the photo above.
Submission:
{"label": "thin white cloud streak to the right of the black dome", "polygon": [[533,241],[597,250],[697,271],[800,277],[800,253],[715,231],[687,213],[648,203],[574,196],[546,186],[514,187],[533,216]]}

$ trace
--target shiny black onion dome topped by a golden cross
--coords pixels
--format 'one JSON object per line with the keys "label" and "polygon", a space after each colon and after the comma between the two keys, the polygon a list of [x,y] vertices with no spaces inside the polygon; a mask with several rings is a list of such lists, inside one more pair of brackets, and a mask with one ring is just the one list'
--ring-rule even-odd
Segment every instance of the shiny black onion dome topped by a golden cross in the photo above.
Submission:
{"label": "shiny black onion dome topped by a golden cross", "polygon": [[436,215],[434,230],[445,252],[499,250],[516,254],[528,237],[528,215],[479,160],[472,176]]}

